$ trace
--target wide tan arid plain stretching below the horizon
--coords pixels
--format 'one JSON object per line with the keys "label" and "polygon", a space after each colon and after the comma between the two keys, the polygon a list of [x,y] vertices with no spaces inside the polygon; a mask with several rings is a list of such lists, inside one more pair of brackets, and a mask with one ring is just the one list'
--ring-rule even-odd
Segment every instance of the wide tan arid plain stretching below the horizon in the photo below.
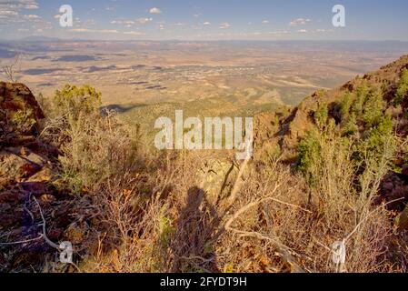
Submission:
{"label": "wide tan arid plain stretching below the horizon", "polygon": [[[21,54],[18,81],[35,95],[91,85],[109,109],[153,128],[174,115],[254,115],[297,105],[320,88],[391,62],[403,42],[21,41],[0,45],[1,62]],[[6,58],[8,57],[8,58]]]}

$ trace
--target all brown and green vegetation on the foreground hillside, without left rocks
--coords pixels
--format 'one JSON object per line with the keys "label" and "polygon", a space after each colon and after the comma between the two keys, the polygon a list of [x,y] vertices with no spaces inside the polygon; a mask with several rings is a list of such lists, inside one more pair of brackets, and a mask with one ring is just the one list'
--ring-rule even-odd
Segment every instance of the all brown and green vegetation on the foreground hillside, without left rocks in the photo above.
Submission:
{"label": "all brown and green vegetation on the foreground hillside, without left rocks", "polygon": [[[95,90],[65,87],[45,106],[49,117],[38,139],[60,150],[50,186],[69,193],[75,213],[53,238],[73,242],[75,266],[44,257],[35,270],[405,272],[406,234],[394,217],[407,197],[383,199],[380,189],[384,176],[398,171],[396,157],[405,156],[403,130],[393,130],[397,121],[403,127],[403,114],[387,119],[385,112],[387,95],[400,88],[406,98],[399,80],[407,66],[405,56],[364,77],[369,88],[385,84],[383,95],[364,95],[363,105],[381,114],[356,115],[353,134],[343,129],[357,107],[336,119],[334,105],[344,90],[358,101],[359,79],[335,97],[316,93],[292,115],[263,115],[274,129],[256,134],[263,154],[241,165],[224,153],[151,150],[137,128],[100,115]],[[372,102],[383,96],[384,104]],[[44,209],[48,234],[55,231],[53,211]],[[32,214],[38,223],[39,213]],[[344,264],[333,263],[336,242],[346,246]]]}

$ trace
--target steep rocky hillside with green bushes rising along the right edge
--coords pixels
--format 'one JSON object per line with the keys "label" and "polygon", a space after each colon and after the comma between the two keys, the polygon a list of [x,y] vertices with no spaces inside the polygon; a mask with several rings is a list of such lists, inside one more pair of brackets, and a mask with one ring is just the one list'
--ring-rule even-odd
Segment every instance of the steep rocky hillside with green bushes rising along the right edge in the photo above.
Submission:
{"label": "steep rocky hillside with green bushes rising along the right edge", "polygon": [[[328,130],[354,144],[356,162],[363,155],[380,154],[386,137],[397,136],[393,162],[377,200],[397,200],[391,207],[401,211],[408,202],[408,55],[333,90],[317,91],[290,113],[258,115],[255,129],[256,160],[279,156],[303,172],[307,172],[304,164],[312,155],[313,138]],[[402,215],[406,226],[407,212]]]}

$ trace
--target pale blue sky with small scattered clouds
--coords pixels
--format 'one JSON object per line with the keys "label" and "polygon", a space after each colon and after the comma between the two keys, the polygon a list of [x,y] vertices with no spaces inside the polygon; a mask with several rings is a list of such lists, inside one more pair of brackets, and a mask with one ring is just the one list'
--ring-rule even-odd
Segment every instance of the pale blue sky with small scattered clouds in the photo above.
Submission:
{"label": "pale blue sky with small scattered clouds", "polygon": [[[60,25],[62,5],[73,26]],[[0,40],[408,41],[407,12],[406,0],[0,0]]]}

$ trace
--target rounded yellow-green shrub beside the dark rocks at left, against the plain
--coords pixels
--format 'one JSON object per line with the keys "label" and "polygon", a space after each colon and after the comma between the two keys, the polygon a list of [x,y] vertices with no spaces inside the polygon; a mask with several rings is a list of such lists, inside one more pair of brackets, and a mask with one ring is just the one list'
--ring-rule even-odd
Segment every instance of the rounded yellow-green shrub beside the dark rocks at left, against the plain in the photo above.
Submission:
{"label": "rounded yellow-green shrub beside the dark rocks at left, against the plain", "polygon": [[62,146],[63,179],[75,189],[98,186],[111,176],[143,166],[138,152],[139,136],[116,116],[80,115],[70,121],[64,133],[69,142]]}

